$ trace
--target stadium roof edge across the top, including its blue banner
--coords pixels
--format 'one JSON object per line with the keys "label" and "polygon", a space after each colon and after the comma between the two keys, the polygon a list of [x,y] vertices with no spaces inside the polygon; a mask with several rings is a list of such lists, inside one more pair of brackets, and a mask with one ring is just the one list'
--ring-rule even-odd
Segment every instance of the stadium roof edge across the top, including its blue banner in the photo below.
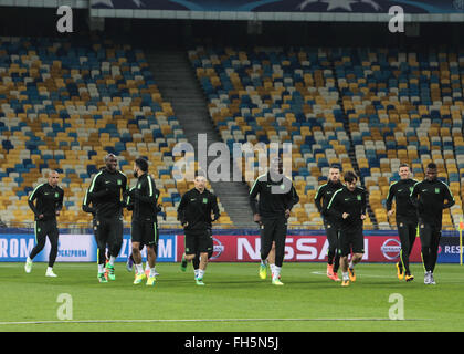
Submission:
{"label": "stadium roof edge across the top, including its blue banner", "polygon": [[0,0],[0,6],[91,9],[92,17],[224,21],[462,22],[464,0]]}

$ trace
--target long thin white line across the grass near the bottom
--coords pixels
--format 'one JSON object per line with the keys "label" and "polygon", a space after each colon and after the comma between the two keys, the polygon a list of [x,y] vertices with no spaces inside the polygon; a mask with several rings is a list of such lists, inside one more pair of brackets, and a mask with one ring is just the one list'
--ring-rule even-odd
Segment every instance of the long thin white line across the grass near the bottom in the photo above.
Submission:
{"label": "long thin white line across the grass near the bottom", "polygon": [[273,322],[273,321],[428,321],[424,319],[183,319],[183,320],[70,320],[70,321],[25,321],[25,322],[0,322],[0,325],[9,324],[63,324],[63,323],[169,323],[169,322]]}

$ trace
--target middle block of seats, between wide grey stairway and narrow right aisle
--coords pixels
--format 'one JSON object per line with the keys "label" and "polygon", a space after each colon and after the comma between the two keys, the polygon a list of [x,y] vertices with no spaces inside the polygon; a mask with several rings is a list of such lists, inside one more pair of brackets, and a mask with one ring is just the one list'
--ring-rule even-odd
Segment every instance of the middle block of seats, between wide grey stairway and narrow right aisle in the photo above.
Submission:
{"label": "middle block of seats, between wide grey stairway and narrow right aisle", "polygon": [[[320,227],[323,220],[313,199],[326,180],[328,166],[337,163],[352,169],[327,53],[197,48],[189,51],[189,58],[214,125],[230,148],[233,143],[246,142],[293,144],[292,175],[300,201],[289,222]],[[257,167],[257,160],[254,163]]]}

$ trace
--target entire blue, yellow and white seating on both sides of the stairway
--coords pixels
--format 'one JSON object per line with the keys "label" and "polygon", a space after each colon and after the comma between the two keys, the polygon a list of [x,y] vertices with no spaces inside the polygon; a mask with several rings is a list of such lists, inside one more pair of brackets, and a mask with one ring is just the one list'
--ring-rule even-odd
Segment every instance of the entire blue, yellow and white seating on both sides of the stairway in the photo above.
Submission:
{"label": "entire blue, yellow and white seating on both sides of the stairway", "polygon": [[[431,160],[456,199],[444,212],[444,228],[458,222],[463,52],[198,46],[188,56],[231,150],[234,143],[293,143],[292,177],[300,196],[294,227],[321,227],[313,199],[328,166],[339,164],[356,170],[369,191],[366,227],[392,228],[384,200],[398,166],[409,163],[421,179]],[[115,153],[129,177],[135,157],[152,163],[160,223],[177,226],[176,205],[192,185],[172,178],[179,157],[171,152],[186,136],[143,51],[109,41],[1,38],[0,80],[2,221],[31,219],[25,200],[50,169],[62,174],[66,192],[61,221],[87,220],[84,188],[103,157]],[[232,227],[221,201],[220,208],[220,223]]]}

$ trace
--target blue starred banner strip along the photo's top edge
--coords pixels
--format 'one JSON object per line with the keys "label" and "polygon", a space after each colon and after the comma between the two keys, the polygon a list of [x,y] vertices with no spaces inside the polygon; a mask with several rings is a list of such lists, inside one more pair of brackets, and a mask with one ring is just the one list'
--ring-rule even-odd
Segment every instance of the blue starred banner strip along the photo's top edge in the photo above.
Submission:
{"label": "blue starred banner strip along the photo's top edge", "polygon": [[352,12],[388,13],[400,6],[404,13],[464,13],[464,0],[91,0],[92,9]]}

